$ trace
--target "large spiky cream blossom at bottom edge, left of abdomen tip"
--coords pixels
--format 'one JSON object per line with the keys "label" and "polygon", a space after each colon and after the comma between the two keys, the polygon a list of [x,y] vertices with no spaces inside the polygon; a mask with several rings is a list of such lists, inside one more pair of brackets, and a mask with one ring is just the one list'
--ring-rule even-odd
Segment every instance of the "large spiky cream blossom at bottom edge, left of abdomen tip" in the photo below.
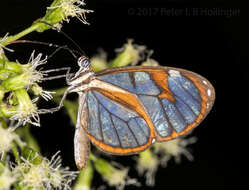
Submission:
{"label": "large spiky cream blossom at bottom edge, left of abdomen tip", "polygon": [[69,171],[68,167],[63,168],[61,166],[61,158],[58,153],[51,160],[42,158],[39,164],[33,164],[32,161],[24,158],[22,158],[22,161],[21,164],[15,166],[13,172],[20,181],[19,185],[23,186],[24,190],[70,190],[70,184],[78,174],[78,172]]}

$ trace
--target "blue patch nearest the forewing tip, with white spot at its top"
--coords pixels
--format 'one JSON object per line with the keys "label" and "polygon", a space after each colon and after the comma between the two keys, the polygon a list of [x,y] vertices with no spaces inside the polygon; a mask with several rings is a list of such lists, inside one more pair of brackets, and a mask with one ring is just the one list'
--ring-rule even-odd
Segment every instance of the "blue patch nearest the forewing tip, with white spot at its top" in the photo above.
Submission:
{"label": "blue patch nearest the forewing tip, with white spot at its top", "polygon": [[[169,89],[174,93],[175,97],[184,102],[198,116],[201,111],[201,97],[198,89],[192,83],[186,82],[183,76],[168,77]],[[184,83],[185,81],[185,83]],[[187,84],[187,85],[186,85]]]}

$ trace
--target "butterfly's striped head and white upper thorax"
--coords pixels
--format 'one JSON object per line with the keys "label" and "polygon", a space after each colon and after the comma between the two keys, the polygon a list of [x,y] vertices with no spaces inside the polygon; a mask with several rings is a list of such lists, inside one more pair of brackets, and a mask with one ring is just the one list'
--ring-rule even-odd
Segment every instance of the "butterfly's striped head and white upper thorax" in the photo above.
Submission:
{"label": "butterfly's striped head and white upper thorax", "polygon": [[81,56],[78,59],[78,65],[80,69],[74,75],[67,78],[68,85],[77,85],[80,83],[86,83],[94,75],[94,72],[91,67],[91,62],[86,56]]}

